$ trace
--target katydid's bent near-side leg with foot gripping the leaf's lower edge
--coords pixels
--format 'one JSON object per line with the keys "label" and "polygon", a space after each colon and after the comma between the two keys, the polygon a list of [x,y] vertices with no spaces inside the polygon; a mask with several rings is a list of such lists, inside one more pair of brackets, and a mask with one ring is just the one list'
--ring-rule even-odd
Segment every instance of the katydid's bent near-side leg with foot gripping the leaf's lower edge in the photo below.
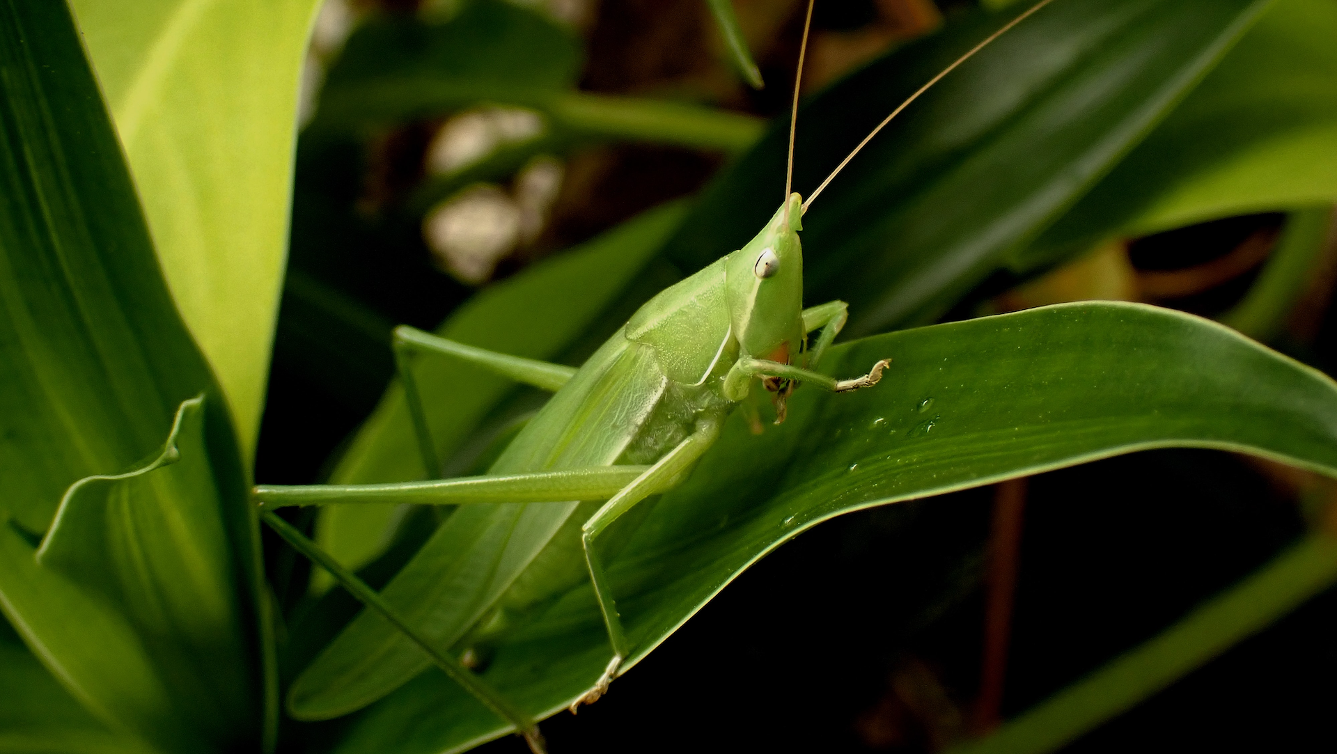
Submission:
{"label": "katydid's bent near-side leg with foot gripping the leaf's lower edge", "polygon": [[678,444],[655,465],[650,467],[635,481],[624,487],[618,495],[611,497],[594,516],[582,527],[582,545],[584,548],[586,566],[590,568],[590,582],[594,586],[595,599],[599,602],[599,611],[603,614],[604,627],[608,631],[608,642],[612,644],[612,658],[604,668],[603,675],[579,699],[571,703],[572,713],[580,705],[591,705],[608,691],[608,684],[618,676],[622,663],[631,655],[631,644],[618,615],[618,604],[612,598],[611,584],[599,556],[595,540],[599,533],[612,525],[623,513],[630,511],[636,503],[646,497],[663,492],[673,485],[682,472],[687,471],[719,437],[719,426],[710,424],[698,428],[690,437]]}

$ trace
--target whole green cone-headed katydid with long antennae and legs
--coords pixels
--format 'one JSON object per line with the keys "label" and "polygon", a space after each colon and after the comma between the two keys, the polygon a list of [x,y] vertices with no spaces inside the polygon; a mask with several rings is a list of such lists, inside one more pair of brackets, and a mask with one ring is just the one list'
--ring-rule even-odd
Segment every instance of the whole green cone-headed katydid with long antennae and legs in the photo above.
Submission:
{"label": "whole green cone-headed katydid with long antennae and legs", "polygon": [[[437,664],[515,726],[536,751],[535,722],[457,656],[495,643],[547,600],[588,582],[611,656],[594,686],[571,701],[592,703],[634,647],[610,588],[599,536],[646,497],[682,481],[714,444],[725,418],[754,384],[773,393],[775,422],[801,384],[832,392],[876,385],[890,360],[837,380],[817,372],[846,320],[832,301],[802,307],[802,215],[828,183],[888,122],[953,68],[1052,0],[1040,0],[939,72],[878,124],[806,202],[790,191],[742,249],[664,289],[579,369],[456,344],[412,328],[394,353],[427,476],[440,468],[412,360],[444,354],[540,389],[552,398],[507,445],[487,476],[380,485],[257,487],[262,519],[325,567],[364,610],[297,679],[294,717],[322,719],[361,709]],[[812,19],[812,0],[808,21]],[[808,23],[800,52],[802,76]],[[794,84],[789,174],[793,172]],[[808,336],[818,333],[809,345]],[[418,553],[377,594],[273,513],[330,503],[459,505]],[[445,564],[443,568],[443,563]]]}

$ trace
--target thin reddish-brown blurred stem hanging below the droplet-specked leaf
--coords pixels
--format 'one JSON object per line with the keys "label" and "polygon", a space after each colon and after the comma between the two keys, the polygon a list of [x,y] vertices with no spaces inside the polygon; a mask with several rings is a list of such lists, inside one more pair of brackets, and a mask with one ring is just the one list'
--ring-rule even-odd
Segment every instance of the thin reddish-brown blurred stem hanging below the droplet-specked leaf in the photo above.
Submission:
{"label": "thin reddish-brown blurred stem hanging below the droplet-specked leaf", "polygon": [[971,721],[971,729],[976,735],[996,729],[1001,722],[1003,683],[1012,632],[1012,603],[1016,594],[1024,509],[1025,477],[999,483],[995,488],[993,524],[989,532],[980,697]]}

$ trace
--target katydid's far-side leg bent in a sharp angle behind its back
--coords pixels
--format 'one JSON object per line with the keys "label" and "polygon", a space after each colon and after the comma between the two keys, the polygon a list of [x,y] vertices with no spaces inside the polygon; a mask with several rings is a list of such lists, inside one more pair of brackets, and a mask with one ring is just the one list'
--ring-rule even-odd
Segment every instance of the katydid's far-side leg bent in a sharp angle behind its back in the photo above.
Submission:
{"label": "katydid's far-side leg bent in a sharp angle behind its back", "polygon": [[417,437],[427,479],[440,476],[441,457],[437,455],[436,444],[432,441],[427,410],[422,406],[422,394],[418,390],[417,380],[413,377],[414,358],[422,354],[451,356],[468,364],[483,366],[517,382],[533,385],[541,390],[556,390],[576,373],[571,366],[464,345],[406,325],[394,328],[392,348],[394,350],[394,368],[404,385],[404,402],[408,404],[409,418],[413,422],[413,434]]}

